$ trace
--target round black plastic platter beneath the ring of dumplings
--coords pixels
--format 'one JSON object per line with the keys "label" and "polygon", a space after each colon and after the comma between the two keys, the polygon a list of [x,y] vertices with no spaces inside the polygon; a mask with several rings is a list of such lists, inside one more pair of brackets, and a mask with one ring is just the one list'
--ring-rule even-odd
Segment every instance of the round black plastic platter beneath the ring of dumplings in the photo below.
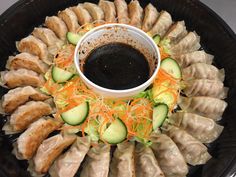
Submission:
{"label": "round black plastic platter beneath the ring of dumplings", "polygon": [[[92,0],[86,0],[90,2]],[[4,70],[9,55],[16,52],[15,41],[27,36],[48,15],[76,5],[76,0],[20,0],[0,16],[0,69]],[[236,35],[212,10],[198,0],[140,0],[159,10],[167,10],[174,20],[185,20],[188,30],[201,36],[203,48],[215,55],[215,65],[225,68],[225,85],[230,88],[229,103],[221,124],[225,129],[218,140],[209,145],[213,158],[204,166],[191,167],[189,177],[234,177],[236,174]],[[0,94],[6,92],[0,89]],[[4,118],[0,117],[0,128]],[[15,136],[0,132],[0,177],[27,177],[27,162],[17,161],[11,155]]]}

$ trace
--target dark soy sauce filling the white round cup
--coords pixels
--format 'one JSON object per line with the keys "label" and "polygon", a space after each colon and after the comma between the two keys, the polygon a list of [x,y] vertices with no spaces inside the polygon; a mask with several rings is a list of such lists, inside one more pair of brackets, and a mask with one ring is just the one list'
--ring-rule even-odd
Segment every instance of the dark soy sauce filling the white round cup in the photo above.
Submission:
{"label": "dark soy sauce filling the white round cup", "polygon": [[109,43],[88,55],[83,70],[93,83],[122,90],[146,82],[150,68],[145,56],[137,49],[124,43]]}

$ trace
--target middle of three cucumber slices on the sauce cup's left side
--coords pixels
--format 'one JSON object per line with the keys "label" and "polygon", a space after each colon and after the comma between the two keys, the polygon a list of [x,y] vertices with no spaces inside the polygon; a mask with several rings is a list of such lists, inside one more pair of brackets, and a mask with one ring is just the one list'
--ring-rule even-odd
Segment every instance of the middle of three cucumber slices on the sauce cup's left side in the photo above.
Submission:
{"label": "middle of three cucumber slices on the sauce cup's left side", "polygon": [[56,83],[59,83],[59,84],[64,83],[64,82],[70,80],[73,76],[74,76],[73,73],[65,71],[65,70],[58,68],[56,66],[54,66],[52,68],[52,79]]}

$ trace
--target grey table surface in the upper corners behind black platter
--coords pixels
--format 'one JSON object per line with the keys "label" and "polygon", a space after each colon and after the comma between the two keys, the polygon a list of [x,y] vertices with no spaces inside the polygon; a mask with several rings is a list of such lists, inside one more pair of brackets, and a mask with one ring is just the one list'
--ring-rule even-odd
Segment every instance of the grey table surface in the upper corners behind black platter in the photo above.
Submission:
{"label": "grey table surface in the upper corners behind black platter", "polygon": [[[17,0],[0,0],[0,14]],[[49,0],[50,1],[50,0]],[[201,0],[219,14],[236,32],[236,0]]]}

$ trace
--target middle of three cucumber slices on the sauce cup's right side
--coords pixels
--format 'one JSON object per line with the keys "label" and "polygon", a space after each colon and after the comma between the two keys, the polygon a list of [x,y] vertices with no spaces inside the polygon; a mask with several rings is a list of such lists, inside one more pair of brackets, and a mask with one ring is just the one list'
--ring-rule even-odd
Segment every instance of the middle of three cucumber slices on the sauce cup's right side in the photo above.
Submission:
{"label": "middle of three cucumber slices on the sauce cup's right side", "polygon": [[176,79],[181,79],[182,77],[179,64],[172,58],[162,60],[161,68]]}

